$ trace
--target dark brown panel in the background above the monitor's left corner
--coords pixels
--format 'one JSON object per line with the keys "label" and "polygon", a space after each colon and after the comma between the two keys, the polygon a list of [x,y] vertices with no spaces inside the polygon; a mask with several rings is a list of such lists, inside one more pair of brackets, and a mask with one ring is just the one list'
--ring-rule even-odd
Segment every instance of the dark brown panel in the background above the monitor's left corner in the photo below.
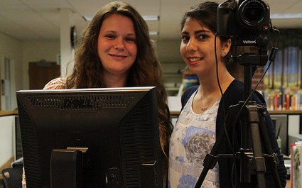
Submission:
{"label": "dark brown panel in the background above the monitor's left corner", "polygon": [[29,89],[43,89],[56,77],[60,77],[60,65],[56,62],[29,62]]}

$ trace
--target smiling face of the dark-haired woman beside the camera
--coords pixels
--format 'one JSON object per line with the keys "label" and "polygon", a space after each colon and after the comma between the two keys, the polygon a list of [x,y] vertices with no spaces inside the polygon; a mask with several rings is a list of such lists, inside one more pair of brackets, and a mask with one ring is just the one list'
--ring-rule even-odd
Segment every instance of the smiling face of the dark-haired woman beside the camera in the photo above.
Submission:
{"label": "smiling face of the dark-haired woman beside the camera", "polygon": [[[196,19],[188,17],[181,36],[180,53],[189,69],[199,76],[215,73],[215,33]],[[216,53],[220,63],[222,50],[225,47],[221,45],[219,38],[216,43]]]}

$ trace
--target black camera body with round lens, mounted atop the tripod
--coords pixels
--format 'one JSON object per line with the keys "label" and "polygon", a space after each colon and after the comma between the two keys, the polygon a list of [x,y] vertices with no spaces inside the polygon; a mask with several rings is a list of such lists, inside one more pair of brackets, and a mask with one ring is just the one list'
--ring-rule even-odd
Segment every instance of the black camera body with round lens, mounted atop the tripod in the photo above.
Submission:
{"label": "black camera body with round lens, mounted atop the tripod", "polygon": [[217,8],[217,34],[251,36],[269,32],[269,5],[261,0],[229,0]]}

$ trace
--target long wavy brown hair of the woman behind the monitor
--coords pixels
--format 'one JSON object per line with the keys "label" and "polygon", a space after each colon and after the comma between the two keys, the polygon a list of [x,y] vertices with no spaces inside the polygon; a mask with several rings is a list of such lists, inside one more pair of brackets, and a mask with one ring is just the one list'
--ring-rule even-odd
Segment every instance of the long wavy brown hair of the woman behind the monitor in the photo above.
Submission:
{"label": "long wavy brown hair of the woman behind the monitor", "polygon": [[97,54],[97,41],[102,22],[112,14],[131,18],[136,33],[137,56],[129,71],[127,87],[155,86],[157,94],[159,133],[161,149],[168,166],[168,140],[172,126],[167,105],[167,94],[161,79],[161,65],[156,58],[153,43],[149,38],[149,28],[141,15],[129,4],[115,1],[103,6],[92,18],[80,45],[75,50],[75,66],[67,79],[68,88],[105,87],[102,81],[102,62]]}

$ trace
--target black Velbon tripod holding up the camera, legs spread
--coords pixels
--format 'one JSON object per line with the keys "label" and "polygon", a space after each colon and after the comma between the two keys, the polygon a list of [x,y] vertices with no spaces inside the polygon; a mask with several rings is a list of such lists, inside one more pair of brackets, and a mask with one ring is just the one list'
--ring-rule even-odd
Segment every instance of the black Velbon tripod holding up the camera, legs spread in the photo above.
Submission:
{"label": "black Velbon tripod holding up the camera, legs spread", "polygon": [[[246,102],[242,101],[237,105],[230,106],[225,118],[225,127],[222,127],[222,131],[220,131],[220,134],[217,136],[217,140],[210,154],[207,154],[203,160],[203,171],[200,174],[198,182],[195,184],[195,188],[201,187],[208,170],[215,167],[219,157],[235,157],[236,160],[239,160],[239,187],[251,187],[251,176],[256,174],[258,187],[265,188],[266,167],[271,170],[275,187],[281,187],[279,175],[276,170],[276,153],[273,153],[265,126],[264,116],[266,106],[259,105],[256,101],[250,101],[249,99],[249,94],[252,91],[252,74],[255,68],[255,65],[249,62],[257,62],[257,60],[263,61],[264,56],[265,55],[261,54],[252,55],[252,53],[244,53],[239,57],[240,62],[247,62],[242,63],[242,65],[244,65],[243,98]],[[241,145],[239,150],[233,154],[219,153],[221,143],[225,142],[225,138],[228,136],[226,134],[229,134],[231,128],[234,128],[238,124],[241,127]],[[265,153],[262,153],[263,151]]]}

